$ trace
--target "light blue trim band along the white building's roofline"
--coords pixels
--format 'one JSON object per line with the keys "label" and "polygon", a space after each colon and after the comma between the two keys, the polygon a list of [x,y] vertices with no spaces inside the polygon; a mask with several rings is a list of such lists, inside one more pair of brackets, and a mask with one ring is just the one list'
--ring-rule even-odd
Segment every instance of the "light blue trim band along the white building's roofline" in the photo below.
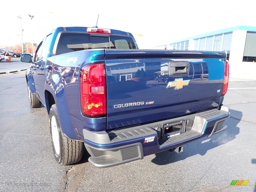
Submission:
{"label": "light blue trim band along the white building's roofline", "polygon": [[[204,37],[209,37],[209,36],[213,36],[213,35],[219,35],[219,34],[223,34],[223,33],[230,33],[230,32],[235,31],[235,30],[256,31],[256,27],[239,25],[239,26],[235,26],[235,27],[221,29],[221,30],[218,30],[218,31],[212,31],[212,32],[209,32],[209,33],[205,33],[205,34],[201,34],[201,35],[197,35],[197,36],[193,36],[193,37],[180,39],[180,40],[177,40],[177,41],[172,41],[172,42],[169,42],[165,45],[169,45],[169,44],[173,44],[173,43],[179,43],[179,42],[182,42],[182,41],[188,41],[190,39],[198,39],[198,38],[204,38]],[[159,46],[156,46],[156,47],[161,47],[161,46],[165,46],[165,45],[159,45]]]}

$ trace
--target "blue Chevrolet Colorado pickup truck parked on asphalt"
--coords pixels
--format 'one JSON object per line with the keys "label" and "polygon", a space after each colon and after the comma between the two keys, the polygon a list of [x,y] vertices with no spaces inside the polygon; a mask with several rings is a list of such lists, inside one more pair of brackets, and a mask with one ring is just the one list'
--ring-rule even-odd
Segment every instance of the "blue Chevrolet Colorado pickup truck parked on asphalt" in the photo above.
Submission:
{"label": "blue Chevrolet Colorado pickup truck parked on asphalt", "polygon": [[[40,42],[26,72],[29,104],[49,115],[56,161],[116,166],[227,128],[225,52],[138,49],[131,33],[58,27]],[[156,82],[164,71],[168,81]]]}

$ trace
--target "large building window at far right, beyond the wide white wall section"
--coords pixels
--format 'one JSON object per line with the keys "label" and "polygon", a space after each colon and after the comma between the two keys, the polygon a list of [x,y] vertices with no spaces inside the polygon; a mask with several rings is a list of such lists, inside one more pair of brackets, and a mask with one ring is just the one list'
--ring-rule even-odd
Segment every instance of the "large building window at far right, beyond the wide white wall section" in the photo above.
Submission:
{"label": "large building window at far right, beyond the wide white wall section", "polygon": [[244,52],[243,52],[243,61],[246,62],[256,62],[256,32],[247,32]]}

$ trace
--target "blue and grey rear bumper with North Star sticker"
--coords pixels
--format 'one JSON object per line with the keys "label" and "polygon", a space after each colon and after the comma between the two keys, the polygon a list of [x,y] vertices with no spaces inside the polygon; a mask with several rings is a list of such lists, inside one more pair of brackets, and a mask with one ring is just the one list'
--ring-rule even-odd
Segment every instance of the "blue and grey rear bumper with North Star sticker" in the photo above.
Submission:
{"label": "blue and grey rear bumper with North Star sticker", "polygon": [[[89,162],[98,168],[111,167],[143,159],[144,156],[169,150],[202,137],[210,137],[224,131],[224,121],[229,118],[229,107],[212,109],[161,122],[115,130],[91,132],[83,130],[84,145],[92,156]],[[166,125],[181,124],[182,131],[163,134]],[[162,133],[159,133],[160,128]],[[163,127],[163,128],[162,128]],[[162,136],[160,136],[160,135]],[[163,136],[164,135],[164,136]]]}

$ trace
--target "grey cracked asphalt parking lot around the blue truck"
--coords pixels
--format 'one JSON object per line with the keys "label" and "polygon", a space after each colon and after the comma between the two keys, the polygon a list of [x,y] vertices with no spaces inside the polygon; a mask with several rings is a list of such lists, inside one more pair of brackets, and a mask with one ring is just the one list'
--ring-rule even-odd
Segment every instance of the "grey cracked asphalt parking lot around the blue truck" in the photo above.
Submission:
{"label": "grey cracked asphalt parking lot around the blue truck", "polygon": [[[256,80],[230,79],[224,104],[227,130],[184,145],[183,153],[104,169],[85,155],[60,166],[46,108],[29,107],[25,71],[0,74],[0,191],[256,191]],[[232,180],[249,182],[231,186]]]}

